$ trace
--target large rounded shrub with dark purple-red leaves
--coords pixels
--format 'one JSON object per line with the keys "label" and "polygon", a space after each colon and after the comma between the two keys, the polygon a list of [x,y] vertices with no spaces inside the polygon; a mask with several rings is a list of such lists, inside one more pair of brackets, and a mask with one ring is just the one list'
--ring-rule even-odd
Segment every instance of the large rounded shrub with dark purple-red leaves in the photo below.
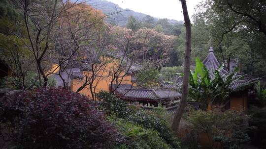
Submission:
{"label": "large rounded shrub with dark purple-red leaves", "polygon": [[64,89],[7,96],[0,122],[15,130],[11,139],[23,149],[109,149],[119,141],[95,104]]}

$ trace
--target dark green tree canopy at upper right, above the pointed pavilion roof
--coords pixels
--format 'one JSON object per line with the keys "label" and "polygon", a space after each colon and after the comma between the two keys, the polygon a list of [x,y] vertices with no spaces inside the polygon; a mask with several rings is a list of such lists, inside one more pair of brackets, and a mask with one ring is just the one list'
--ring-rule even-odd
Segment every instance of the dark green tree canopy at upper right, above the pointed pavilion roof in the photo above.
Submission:
{"label": "dark green tree canopy at upper right, above the pointed pavilion roof", "polygon": [[[205,0],[199,3],[193,16],[192,58],[204,58],[208,47],[213,47],[220,61],[237,59],[244,73],[264,75],[265,25],[261,29],[258,26],[266,22],[265,6],[265,1],[258,0]],[[254,20],[233,10],[248,14]],[[185,32],[181,35],[183,44],[178,50],[182,53]]]}

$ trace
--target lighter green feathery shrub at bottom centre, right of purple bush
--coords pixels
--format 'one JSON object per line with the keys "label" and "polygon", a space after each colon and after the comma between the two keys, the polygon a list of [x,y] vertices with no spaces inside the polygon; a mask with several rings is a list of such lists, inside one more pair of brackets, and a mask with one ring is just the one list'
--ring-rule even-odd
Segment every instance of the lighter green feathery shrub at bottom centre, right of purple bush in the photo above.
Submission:
{"label": "lighter green feathery shrub at bottom centre, right of purple bush", "polygon": [[[123,146],[126,145],[125,149],[173,149],[156,130],[144,128],[124,119],[114,117],[111,119],[125,137],[123,144]],[[121,148],[121,146],[119,147]]]}

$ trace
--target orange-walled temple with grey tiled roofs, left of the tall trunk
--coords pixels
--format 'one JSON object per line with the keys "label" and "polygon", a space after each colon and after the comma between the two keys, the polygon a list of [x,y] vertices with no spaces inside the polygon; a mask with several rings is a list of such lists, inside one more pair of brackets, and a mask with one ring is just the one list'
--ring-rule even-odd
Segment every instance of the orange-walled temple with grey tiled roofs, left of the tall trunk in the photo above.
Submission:
{"label": "orange-walled temple with grey tiled roofs, left of the tall trunk", "polygon": [[[124,60],[122,63],[117,61],[121,57]],[[120,66],[120,64],[124,66]],[[97,65],[99,68],[95,68]],[[121,72],[117,73],[117,67],[123,67]],[[133,63],[125,55],[105,52],[105,56],[97,60],[89,58],[89,56],[73,58],[65,64],[61,64],[60,69],[54,72],[51,77],[56,79],[56,87],[67,86],[74,92],[85,85],[79,93],[91,98],[100,91],[106,91],[114,92],[114,94],[131,103],[158,106],[159,104],[165,105],[170,101],[178,100],[181,97],[181,94],[173,89],[136,87],[134,75],[139,71],[141,71],[141,65]],[[114,78],[113,73],[117,73],[116,78]]]}

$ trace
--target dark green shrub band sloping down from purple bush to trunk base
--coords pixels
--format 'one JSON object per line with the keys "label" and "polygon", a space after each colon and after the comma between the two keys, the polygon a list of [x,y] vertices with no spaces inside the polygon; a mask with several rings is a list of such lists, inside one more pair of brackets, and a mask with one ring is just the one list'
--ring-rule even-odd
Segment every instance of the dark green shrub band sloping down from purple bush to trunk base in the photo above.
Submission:
{"label": "dark green shrub band sloping down from purple bush to trunk base", "polygon": [[[166,120],[158,118],[152,114],[147,114],[143,110],[136,109],[133,106],[130,106],[123,99],[107,92],[98,93],[97,98],[101,100],[100,107],[106,114],[123,118],[131,124],[143,127],[143,129],[156,131],[159,137],[161,137],[172,148],[178,149],[180,147],[177,138],[174,137]],[[120,127],[120,125],[118,125],[118,127]]]}

